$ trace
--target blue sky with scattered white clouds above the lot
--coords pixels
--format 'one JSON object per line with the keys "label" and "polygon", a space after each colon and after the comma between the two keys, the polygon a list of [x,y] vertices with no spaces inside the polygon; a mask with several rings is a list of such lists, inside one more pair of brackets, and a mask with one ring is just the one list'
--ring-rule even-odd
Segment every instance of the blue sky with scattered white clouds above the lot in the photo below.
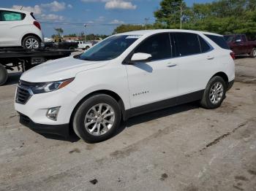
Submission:
{"label": "blue sky with scattered white clouds above the lot", "polygon": [[[63,28],[64,34],[112,34],[121,24],[154,23],[154,11],[161,0],[1,0],[0,7],[34,12],[42,24],[45,37],[56,34],[54,28]],[[206,3],[212,0],[185,0]],[[84,27],[86,24],[86,27]]]}

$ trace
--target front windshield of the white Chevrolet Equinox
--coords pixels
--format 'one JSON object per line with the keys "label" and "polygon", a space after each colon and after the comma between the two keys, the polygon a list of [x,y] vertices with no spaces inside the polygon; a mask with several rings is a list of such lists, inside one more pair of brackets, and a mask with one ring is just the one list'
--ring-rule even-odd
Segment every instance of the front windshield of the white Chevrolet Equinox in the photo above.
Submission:
{"label": "front windshield of the white Chevrolet Equinox", "polygon": [[108,61],[117,58],[124,50],[135,42],[140,36],[110,36],[108,39],[95,44],[89,50],[77,57],[85,61]]}

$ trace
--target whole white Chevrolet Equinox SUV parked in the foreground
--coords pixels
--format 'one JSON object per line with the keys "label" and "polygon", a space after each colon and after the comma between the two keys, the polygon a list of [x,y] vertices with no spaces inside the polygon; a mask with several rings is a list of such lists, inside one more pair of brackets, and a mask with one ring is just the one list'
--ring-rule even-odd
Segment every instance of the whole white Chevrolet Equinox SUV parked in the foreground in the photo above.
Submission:
{"label": "whole white Chevrolet Equinox SUV parked in the foreground", "polygon": [[200,101],[222,104],[235,78],[223,36],[153,30],[116,34],[81,55],[43,63],[20,77],[15,109],[41,133],[110,138],[122,120]]}

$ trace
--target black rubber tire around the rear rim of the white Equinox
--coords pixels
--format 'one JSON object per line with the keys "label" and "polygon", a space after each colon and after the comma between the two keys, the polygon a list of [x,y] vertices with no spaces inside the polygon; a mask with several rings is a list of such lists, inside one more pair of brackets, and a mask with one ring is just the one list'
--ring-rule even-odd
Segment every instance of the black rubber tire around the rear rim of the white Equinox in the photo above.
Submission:
{"label": "black rubber tire around the rear rim of the white Equinox", "polygon": [[[222,84],[223,93],[222,93],[221,98],[219,99],[219,101],[214,104],[210,99],[210,93],[211,93],[211,88],[214,85],[216,85],[216,83],[218,83],[218,82]],[[206,108],[206,109],[216,109],[216,108],[218,108],[222,104],[222,101],[225,98],[226,90],[227,90],[227,85],[226,85],[226,83],[225,83],[225,81],[222,77],[216,76],[216,77],[211,78],[210,81],[208,82],[207,86],[206,86],[206,90],[203,93],[203,98],[200,101],[200,105],[203,108]]]}

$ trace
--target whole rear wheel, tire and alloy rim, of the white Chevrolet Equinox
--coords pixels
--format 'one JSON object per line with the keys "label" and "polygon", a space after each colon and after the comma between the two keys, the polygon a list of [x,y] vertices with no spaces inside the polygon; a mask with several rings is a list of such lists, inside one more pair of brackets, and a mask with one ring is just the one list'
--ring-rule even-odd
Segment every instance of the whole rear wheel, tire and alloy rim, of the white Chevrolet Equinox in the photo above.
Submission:
{"label": "whole rear wheel, tire and alloy rim, of the white Chevrolet Equinox", "polygon": [[227,87],[222,77],[213,77],[206,86],[203,93],[203,98],[200,101],[201,106],[206,109],[216,109],[225,98]]}

